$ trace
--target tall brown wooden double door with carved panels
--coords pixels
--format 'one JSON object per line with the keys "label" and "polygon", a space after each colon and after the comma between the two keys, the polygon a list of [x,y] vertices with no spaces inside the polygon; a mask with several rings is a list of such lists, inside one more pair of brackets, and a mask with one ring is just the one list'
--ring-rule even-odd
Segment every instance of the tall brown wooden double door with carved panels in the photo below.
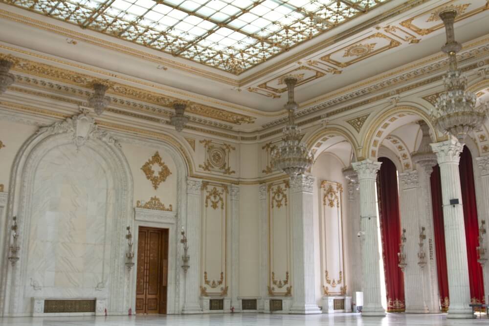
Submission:
{"label": "tall brown wooden double door with carved panels", "polygon": [[166,314],[168,229],[139,227],[136,313]]}

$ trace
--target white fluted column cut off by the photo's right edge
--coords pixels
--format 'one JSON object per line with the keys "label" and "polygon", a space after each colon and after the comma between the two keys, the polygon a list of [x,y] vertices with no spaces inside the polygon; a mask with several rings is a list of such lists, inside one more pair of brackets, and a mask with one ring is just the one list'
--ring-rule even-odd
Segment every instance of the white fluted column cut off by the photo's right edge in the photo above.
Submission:
{"label": "white fluted column cut off by the photo's right edge", "polygon": [[[489,215],[489,156],[481,156],[476,158],[477,161],[477,166],[480,171],[480,179],[479,179],[479,187],[480,189],[476,189],[476,192],[480,190],[480,195],[478,198],[481,198],[480,202],[481,206],[479,209],[479,226],[481,225],[482,221],[485,221],[485,229],[486,229],[486,234],[483,235],[484,239],[484,246],[486,249],[488,248],[488,243],[489,243],[489,232],[488,226],[489,226],[489,221],[488,221],[488,215]],[[478,205],[479,206],[479,205]],[[481,245],[481,243],[479,243]],[[489,254],[486,254],[486,258],[489,257]],[[488,263],[484,263],[482,265],[482,272],[484,274],[484,292],[486,295],[489,294],[489,266]],[[486,302],[487,303],[487,302]]]}

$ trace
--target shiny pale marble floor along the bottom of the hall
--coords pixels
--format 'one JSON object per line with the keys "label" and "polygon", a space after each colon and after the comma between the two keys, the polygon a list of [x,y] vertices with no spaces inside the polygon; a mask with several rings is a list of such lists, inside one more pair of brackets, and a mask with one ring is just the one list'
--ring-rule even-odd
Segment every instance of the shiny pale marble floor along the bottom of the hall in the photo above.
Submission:
{"label": "shiny pale marble floor along the bottom of the hall", "polygon": [[361,317],[359,314],[336,315],[280,315],[280,314],[205,314],[205,315],[152,315],[109,317],[17,317],[0,318],[0,326],[402,326],[402,325],[489,325],[481,319],[450,320],[445,314],[412,315],[387,314],[387,317]]}

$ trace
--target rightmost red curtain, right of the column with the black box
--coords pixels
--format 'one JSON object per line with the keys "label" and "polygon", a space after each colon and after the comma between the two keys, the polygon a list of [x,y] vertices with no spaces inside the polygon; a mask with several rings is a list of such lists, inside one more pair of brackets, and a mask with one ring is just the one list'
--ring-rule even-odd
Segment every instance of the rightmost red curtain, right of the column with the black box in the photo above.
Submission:
{"label": "rightmost red curtain, right of the column with the black box", "polygon": [[468,278],[470,283],[470,301],[474,304],[484,303],[484,278],[482,267],[477,262],[477,246],[479,246],[479,221],[477,219],[477,203],[475,200],[474,170],[472,155],[467,146],[460,154],[460,184],[462,187],[462,203],[464,207],[465,236],[467,239]]}

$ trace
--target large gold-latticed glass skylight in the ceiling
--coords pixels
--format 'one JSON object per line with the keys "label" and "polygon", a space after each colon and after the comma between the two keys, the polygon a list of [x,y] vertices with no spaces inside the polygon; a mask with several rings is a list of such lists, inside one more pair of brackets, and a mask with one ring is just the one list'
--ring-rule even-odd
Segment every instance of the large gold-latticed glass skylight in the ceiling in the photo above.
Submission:
{"label": "large gold-latticed glass skylight in the ceiling", "polygon": [[0,0],[234,74],[387,0]]}

